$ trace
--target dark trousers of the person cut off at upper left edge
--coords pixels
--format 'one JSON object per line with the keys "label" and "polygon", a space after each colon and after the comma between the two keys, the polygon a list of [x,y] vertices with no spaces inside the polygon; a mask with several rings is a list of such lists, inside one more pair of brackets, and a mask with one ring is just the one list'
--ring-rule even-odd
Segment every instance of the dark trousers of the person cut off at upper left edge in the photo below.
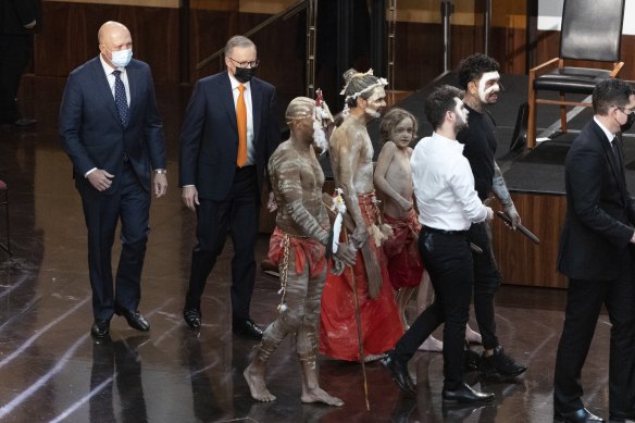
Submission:
{"label": "dark trousers of the person cut off at upper left edge", "polygon": [[0,124],[21,117],[15,98],[32,51],[33,35],[0,34]]}

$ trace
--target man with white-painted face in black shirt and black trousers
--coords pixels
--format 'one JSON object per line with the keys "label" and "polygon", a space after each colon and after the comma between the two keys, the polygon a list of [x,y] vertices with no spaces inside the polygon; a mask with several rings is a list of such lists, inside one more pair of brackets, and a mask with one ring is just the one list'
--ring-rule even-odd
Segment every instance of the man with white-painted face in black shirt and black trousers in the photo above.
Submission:
{"label": "man with white-painted face in black shirt and black trousers", "polygon": [[[487,104],[498,100],[500,75],[498,62],[485,54],[476,53],[464,59],[459,65],[459,84],[465,90],[463,102],[470,114],[468,127],[458,134],[464,144],[463,155],[470,161],[475,189],[481,200],[489,192],[498,198],[505,212],[512,221],[512,227],[521,217],[509,195],[500,169],[495,161],[496,128],[491,116],[485,110]],[[473,253],[474,260],[474,311],[483,339],[483,356],[480,371],[503,377],[514,377],[527,368],[516,364],[505,353],[496,336],[494,296],[500,286],[500,273],[491,249],[491,228],[488,222],[472,224],[470,241],[483,249]]]}

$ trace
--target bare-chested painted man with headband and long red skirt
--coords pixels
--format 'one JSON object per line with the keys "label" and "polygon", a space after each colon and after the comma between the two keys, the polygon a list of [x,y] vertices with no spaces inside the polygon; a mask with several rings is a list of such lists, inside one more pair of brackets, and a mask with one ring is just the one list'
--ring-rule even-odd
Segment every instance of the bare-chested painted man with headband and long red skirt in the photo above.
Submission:
{"label": "bare-chested painted man with headband and long red skirt", "polygon": [[[373,145],[366,132],[366,123],[379,117],[386,107],[387,82],[374,76],[372,71],[349,70],[344,78],[346,86],[341,94],[346,96],[348,114],[331,136],[329,154],[336,187],[343,190],[354,224],[350,239],[362,251],[358,251],[353,268],[339,276],[326,277],[320,352],[340,360],[370,361],[393,348],[403,333],[382,250],[382,241],[390,228],[382,229],[379,222],[373,186]],[[358,334],[356,296],[361,334]]]}

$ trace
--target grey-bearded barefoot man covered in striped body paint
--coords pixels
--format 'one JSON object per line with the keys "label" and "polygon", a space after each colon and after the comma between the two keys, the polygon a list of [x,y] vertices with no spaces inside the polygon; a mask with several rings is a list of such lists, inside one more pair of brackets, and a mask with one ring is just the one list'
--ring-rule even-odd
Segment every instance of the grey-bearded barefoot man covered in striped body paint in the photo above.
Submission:
{"label": "grey-bearded barefoot man covered in striped body paint", "polygon": [[[344,405],[320,388],[315,360],[320,299],[327,270],[325,252],[331,248],[331,225],[322,202],[324,173],[313,147],[321,151],[328,147],[322,111],[329,115],[314,100],[294,99],[286,111],[290,137],[269,161],[278,211],[269,258],[278,264],[282,301],[278,318],[264,331],[256,357],[244,372],[251,396],[259,401],[275,399],[264,383],[266,363],[283,339],[295,334],[302,366],[302,402]],[[353,265],[354,248],[339,244],[334,260],[341,268]]]}

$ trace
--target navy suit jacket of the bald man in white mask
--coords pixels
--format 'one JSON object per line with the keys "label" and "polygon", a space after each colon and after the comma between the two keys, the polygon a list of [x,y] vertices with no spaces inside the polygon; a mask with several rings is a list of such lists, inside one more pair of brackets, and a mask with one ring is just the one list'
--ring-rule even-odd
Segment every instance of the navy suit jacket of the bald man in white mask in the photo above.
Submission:
{"label": "navy suit jacket of the bald man in white mask", "polygon": [[92,167],[115,175],[103,194],[119,188],[117,175],[124,153],[146,190],[150,190],[152,169],[165,169],[163,123],[159,116],[152,74],[148,64],[132,60],[126,66],[130,89],[130,113],[123,127],[114,97],[99,57],[77,67],[69,76],[60,109],[60,135],[73,162],[79,188],[91,187],[84,177]]}

